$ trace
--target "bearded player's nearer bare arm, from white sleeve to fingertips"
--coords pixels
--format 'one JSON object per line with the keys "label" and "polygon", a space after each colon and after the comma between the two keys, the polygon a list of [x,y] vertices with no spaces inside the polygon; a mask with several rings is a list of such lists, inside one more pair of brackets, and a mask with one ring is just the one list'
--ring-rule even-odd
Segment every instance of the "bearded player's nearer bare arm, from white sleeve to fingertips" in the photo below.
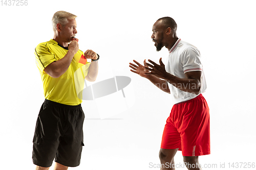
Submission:
{"label": "bearded player's nearer bare arm, from white sleeve to fingertips", "polygon": [[157,78],[163,79],[168,83],[174,85],[176,88],[190,93],[199,94],[201,87],[201,71],[190,71],[185,73],[185,79],[178,78],[172,74],[169,74],[165,70],[165,66],[160,58],[158,65],[152,60],[148,60],[150,63],[145,63],[145,69],[149,72],[145,72],[145,75],[153,75]]}

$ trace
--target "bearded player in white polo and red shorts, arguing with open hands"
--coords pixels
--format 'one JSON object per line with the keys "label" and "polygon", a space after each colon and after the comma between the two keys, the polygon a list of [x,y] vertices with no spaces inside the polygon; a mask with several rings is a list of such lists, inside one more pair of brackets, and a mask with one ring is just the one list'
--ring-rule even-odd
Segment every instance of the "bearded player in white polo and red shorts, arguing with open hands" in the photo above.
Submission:
{"label": "bearded player in white polo and red shorts, arguing with open hands", "polygon": [[188,169],[201,169],[198,156],[210,154],[209,108],[202,94],[206,89],[200,52],[176,35],[173,18],[163,17],[153,25],[151,38],[157,51],[169,51],[166,63],[144,60],[130,63],[131,71],[172,94],[174,106],[166,120],[159,158],[161,169],[175,169],[174,156],[182,151]]}

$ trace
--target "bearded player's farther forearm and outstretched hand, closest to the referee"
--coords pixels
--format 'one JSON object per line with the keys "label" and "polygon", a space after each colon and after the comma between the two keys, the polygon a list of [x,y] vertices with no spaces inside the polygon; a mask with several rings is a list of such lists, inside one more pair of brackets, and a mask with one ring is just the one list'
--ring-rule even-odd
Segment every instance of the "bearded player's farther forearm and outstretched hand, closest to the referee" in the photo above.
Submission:
{"label": "bearded player's farther forearm and outstretched hand, closest to the referee", "polygon": [[[163,90],[164,92],[170,93],[169,87],[167,85],[167,82],[165,80],[161,80],[158,77],[155,77],[153,75],[146,75],[146,72],[150,72],[147,69],[144,68],[143,65],[141,65],[136,60],[133,60],[137,65],[130,63],[130,67],[132,68],[131,71],[140,75],[141,77],[144,77],[148,80],[150,80],[154,85],[156,85],[159,89]],[[146,63],[146,60],[144,60],[144,65]]]}

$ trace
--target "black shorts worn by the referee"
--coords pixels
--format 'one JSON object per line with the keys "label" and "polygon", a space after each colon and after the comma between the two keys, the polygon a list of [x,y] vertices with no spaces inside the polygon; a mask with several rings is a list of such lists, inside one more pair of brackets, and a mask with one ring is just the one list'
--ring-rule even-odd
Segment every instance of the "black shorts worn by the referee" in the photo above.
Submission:
{"label": "black shorts worn by the referee", "polygon": [[38,114],[33,138],[33,163],[50,167],[53,159],[65,166],[80,164],[84,113],[81,105],[45,100]]}

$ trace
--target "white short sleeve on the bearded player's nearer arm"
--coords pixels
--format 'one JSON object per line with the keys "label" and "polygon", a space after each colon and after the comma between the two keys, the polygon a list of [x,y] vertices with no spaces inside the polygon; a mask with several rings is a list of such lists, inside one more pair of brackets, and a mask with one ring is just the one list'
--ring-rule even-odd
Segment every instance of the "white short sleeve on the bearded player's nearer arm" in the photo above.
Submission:
{"label": "white short sleeve on the bearded player's nearer arm", "polygon": [[195,47],[188,47],[181,56],[184,74],[188,71],[202,71],[200,52]]}

